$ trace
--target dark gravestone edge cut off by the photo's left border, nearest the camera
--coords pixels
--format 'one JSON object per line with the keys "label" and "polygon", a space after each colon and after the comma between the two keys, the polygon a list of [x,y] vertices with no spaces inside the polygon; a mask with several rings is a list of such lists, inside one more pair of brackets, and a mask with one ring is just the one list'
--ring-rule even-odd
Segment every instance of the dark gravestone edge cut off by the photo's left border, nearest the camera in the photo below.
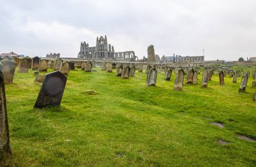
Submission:
{"label": "dark gravestone edge cut off by the photo's left border, nearest the camera", "polygon": [[9,146],[9,125],[5,98],[5,84],[3,79],[3,65],[0,63],[0,161],[11,154]]}

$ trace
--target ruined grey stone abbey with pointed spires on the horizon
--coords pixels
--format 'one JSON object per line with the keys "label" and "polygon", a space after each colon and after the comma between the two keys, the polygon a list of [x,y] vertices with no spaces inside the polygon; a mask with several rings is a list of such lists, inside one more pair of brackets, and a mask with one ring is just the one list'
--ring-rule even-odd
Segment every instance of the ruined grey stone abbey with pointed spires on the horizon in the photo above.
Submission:
{"label": "ruined grey stone abbey with pointed spires on the horizon", "polygon": [[134,51],[115,52],[114,46],[108,44],[105,36],[100,36],[96,39],[96,46],[90,47],[86,42],[81,42],[78,58],[84,59],[98,59],[98,60],[116,60],[116,61],[135,61],[137,57]]}

